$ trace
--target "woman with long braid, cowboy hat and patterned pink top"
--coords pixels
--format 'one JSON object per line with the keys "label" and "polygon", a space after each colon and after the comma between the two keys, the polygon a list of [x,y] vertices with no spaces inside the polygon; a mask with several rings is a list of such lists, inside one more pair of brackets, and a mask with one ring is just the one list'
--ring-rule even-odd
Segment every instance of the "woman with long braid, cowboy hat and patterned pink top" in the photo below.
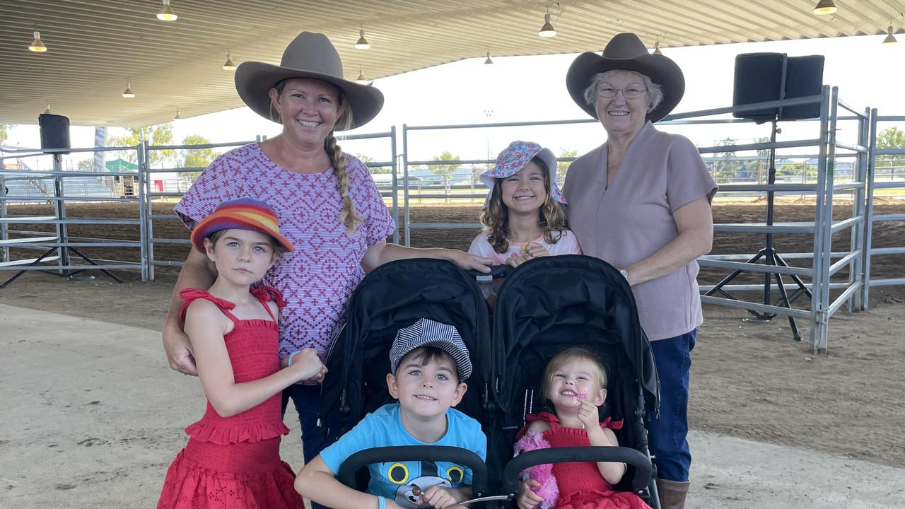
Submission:
{"label": "woman with long braid, cowboy hat and patterned pink top", "polygon": [[[384,104],[376,88],[343,78],[339,54],[323,34],[303,32],[286,48],[281,64],[243,62],[235,88],[254,112],[282,124],[280,135],[234,149],[206,168],[176,205],[186,226],[221,202],[254,197],[277,212],[282,232],[296,252],[284,254],[264,276],[287,305],[280,317],[280,355],[313,348],[321,359],[336,336],[346,304],[366,271],[410,257],[449,259],[466,269],[488,271],[491,261],[449,249],[387,245],[395,228],[380,193],[357,158],[342,151],[334,132],[361,127]],[[204,253],[193,250],[179,274],[163,340],[170,367],[195,374],[191,345],[178,320],[185,287],[205,289],[216,275]],[[318,455],[319,380],[286,389],[304,435],[304,456]],[[331,427],[335,428],[335,427]]]}

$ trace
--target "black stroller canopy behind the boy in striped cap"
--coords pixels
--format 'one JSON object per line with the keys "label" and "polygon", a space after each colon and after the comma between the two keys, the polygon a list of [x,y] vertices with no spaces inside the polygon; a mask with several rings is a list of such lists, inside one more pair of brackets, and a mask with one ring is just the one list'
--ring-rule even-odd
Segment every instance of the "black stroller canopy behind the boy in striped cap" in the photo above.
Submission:
{"label": "black stroller canopy behind the boy in striped cap", "polygon": [[454,325],[462,336],[473,370],[457,408],[478,417],[490,372],[487,305],[473,279],[454,264],[426,258],[381,265],[358,285],[348,303],[346,326],[328,355],[321,415],[338,406],[348,408],[348,422],[354,424],[391,401],[386,391],[390,345],[396,331],[419,318]]}

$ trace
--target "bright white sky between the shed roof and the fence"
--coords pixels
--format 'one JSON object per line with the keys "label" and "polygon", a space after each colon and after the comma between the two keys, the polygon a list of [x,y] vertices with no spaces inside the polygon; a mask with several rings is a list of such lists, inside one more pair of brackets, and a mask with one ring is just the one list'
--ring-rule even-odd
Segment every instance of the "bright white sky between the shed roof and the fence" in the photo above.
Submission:
{"label": "bright white sky between the shed roof and the fence", "polygon": [[[877,108],[881,115],[905,115],[905,36],[894,46],[881,45],[882,35],[837,37],[769,43],[737,43],[715,46],[666,48],[663,54],[679,64],[685,75],[686,91],[673,112],[710,110],[731,106],[735,57],[739,53],[773,52],[790,56],[823,54],[824,83],[838,86],[844,101],[862,110]],[[601,49],[604,43],[601,43]],[[565,86],[569,64],[575,54],[484,57],[452,62],[406,72],[374,82],[384,92],[384,109],[367,126],[352,134],[386,132],[396,126],[397,152],[402,153],[402,126],[429,126],[529,120],[584,120],[583,110],[571,100]],[[225,71],[224,71],[225,72]],[[65,105],[52,105],[65,114]],[[187,110],[184,109],[184,110]],[[816,138],[815,122],[781,122],[779,139]],[[880,129],[902,123],[882,123]],[[853,141],[855,125],[843,122],[838,137]],[[738,142],[768,137],[768,125],[669,126],[699,146],[712,146],[730,137]],[[247,108],[174,120],[174,141],[200,134],[213,142],[274,136],[280,126],[258,117]],[[109,134],[119,134],[110,128]],[[40,145],[36,126],[16,126],[9,132],[8,145]],[[599,124],[470,130],[415,130],[410,132],[409,160],[430,159],[449,150],[462,159],[494,158],[513,139],[530,139],[559,154],[564,150],[583,153],[605,141]],[[73,147],[93,145],[93,128],[73,127]],[[378,161],[390,159],[389,143],[380,140],[346,140],[340,144],[348,152],[366,154]],[[84,156],[81,156],[84,157]]]}

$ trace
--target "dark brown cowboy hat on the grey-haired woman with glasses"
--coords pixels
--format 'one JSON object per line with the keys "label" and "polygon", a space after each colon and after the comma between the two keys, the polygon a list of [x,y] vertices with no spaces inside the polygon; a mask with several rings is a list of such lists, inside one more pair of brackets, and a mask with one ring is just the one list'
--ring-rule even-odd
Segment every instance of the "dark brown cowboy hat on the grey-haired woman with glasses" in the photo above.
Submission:
{"label": "dark brown cowboy hat on the grey-haired woman with glasses", "polygon": [[572,101],[597,118],[594,105],[585,101],[585,89],[598,72],[624,69],[646,74],[663,89],[663,100],[647,114],[655,122],[669,114],[685,93],[685,76],[672,59],[662,54],[648,53],[647,47],[635,34],[616,34],[606,44],[603,55],[581,53],[566,73],[566,88]]}

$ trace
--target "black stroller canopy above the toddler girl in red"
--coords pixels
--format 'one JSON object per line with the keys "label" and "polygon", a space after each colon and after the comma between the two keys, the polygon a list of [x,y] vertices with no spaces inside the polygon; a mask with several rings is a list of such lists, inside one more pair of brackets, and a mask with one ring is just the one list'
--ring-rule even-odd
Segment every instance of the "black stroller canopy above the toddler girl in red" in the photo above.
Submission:
{"label": "black stroller canopy above the toddler girl in red", "polygon": [[[640,385],[645,408],[656,406],[653,358],[632,290],[612,265],[601,260],[549,256],[519,266],[500,288],[493,337],[495,348],[501,349],[494,352],[498,361],[492,368],[496,394],[510,417],[521,412],[524,389],[539,388],[547,361],[558,351],[579,345],[603,354],[611,379],[618,373],[620,381]],[[611,398],[616,396],[611,393]],[[614,418],[622,416],[617,412]]]}

